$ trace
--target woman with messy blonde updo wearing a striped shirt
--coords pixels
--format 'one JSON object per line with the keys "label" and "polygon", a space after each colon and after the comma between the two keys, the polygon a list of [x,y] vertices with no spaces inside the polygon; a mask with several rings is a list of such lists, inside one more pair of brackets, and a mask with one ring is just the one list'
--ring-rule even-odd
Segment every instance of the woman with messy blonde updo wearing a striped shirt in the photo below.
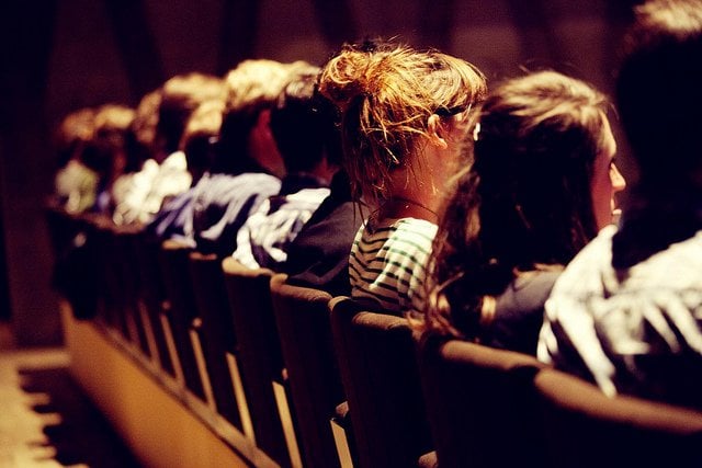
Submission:
{"label": "woman with messy blonde updo wearing a striped shirt", "polygon": [[329,60],[319,89],[340,111],[343,167],[370,212],[349,259],[352,297],[403,313],[421,295],[437,210],[485,79],[438,52],[361,44]]}

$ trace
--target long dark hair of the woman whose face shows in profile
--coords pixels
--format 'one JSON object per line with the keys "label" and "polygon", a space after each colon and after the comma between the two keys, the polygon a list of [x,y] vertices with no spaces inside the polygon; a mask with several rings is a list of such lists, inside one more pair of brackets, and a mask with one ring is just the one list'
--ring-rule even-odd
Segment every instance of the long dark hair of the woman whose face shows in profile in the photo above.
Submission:
{"label": "long dark hair of the woman whose face shows in profile", "polygon": [[[542,71],[495,89],[434,239],[429,327],[475,333],[485,296],[517,272],[564,265],[597,233],[590,180],[604,151],[605,99]],[[467,312],[466,312],[467,311]],[[477,313],[476,313],[477,312]]]}

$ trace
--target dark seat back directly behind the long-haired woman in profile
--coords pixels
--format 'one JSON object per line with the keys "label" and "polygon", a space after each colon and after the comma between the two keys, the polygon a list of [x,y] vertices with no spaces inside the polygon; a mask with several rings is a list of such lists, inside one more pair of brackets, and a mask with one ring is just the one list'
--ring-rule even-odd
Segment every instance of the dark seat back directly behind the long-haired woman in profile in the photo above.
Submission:
{"label": "dark seat back directly behind the long-haired woman in profile", "polygon": [[441,467],[544,466],[535,357],[455,339],[417,339]]}

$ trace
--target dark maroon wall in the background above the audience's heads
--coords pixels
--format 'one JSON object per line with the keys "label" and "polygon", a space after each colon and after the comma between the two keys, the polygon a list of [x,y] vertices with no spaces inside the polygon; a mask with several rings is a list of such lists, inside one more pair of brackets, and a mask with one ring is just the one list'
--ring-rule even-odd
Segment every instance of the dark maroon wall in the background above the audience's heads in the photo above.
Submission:
{"label": "dark maroon wall in the background above the audience's heads", "polygon": [[[495,83],[552,68],[610,94],[635,0],[3,0],[0,5],[0,323],[19,346],[61,343],[43,203],[67,113],[135,106],[186,71],[245,58],[321,65],[344,41],[396,37]],[[615,113],[612,113],[615,115]],[[614,118],[615,135],[619,126]],[[635,178],[620,142],[622,171]]]}

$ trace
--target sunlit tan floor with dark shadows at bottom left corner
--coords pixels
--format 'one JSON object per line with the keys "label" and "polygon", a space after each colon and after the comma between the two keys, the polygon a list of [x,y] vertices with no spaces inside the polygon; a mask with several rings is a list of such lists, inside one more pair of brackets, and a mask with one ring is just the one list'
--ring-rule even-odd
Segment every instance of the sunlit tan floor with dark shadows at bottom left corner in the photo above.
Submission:
{"label": "sunlit tan floor with dark shadows at bottom left corner", "polygon": [[64,349],[14,349],[0,323],[0,468],[138,467],[68,364]]}

